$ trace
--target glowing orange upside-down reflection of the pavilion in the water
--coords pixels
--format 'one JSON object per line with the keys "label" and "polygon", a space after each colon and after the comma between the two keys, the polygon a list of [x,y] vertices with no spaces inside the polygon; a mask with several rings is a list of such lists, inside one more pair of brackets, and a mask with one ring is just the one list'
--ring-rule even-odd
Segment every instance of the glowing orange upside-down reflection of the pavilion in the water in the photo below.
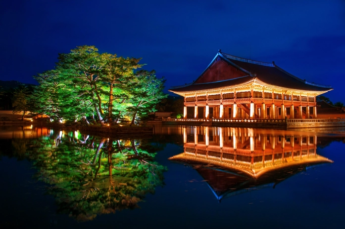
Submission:
{"label": "glowing orange upside-down reflection of the pavilion in the water", "polygon": [[316,154],[316,138],[249,128],[185,127],[184,153],[169,159],[197,165],[217,198],[223,198],[225,193],[275,185],[310,165],[333,162]]}

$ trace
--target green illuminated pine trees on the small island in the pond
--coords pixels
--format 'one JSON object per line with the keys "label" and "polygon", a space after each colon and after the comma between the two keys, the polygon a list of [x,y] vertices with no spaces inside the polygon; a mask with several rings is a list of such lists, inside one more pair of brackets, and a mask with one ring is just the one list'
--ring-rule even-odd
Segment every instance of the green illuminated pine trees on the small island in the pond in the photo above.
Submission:
{"label": "green illuminated pine trees on the small island in the pond", "polygon": [[79,46],[59,54],[55,69],[35,76],[35,112],[54,120],[94,120],[112,124],[155,111],[166,95],[165,80],[154,71],[138,69],[140,58],[99,53],[95,46]]}

